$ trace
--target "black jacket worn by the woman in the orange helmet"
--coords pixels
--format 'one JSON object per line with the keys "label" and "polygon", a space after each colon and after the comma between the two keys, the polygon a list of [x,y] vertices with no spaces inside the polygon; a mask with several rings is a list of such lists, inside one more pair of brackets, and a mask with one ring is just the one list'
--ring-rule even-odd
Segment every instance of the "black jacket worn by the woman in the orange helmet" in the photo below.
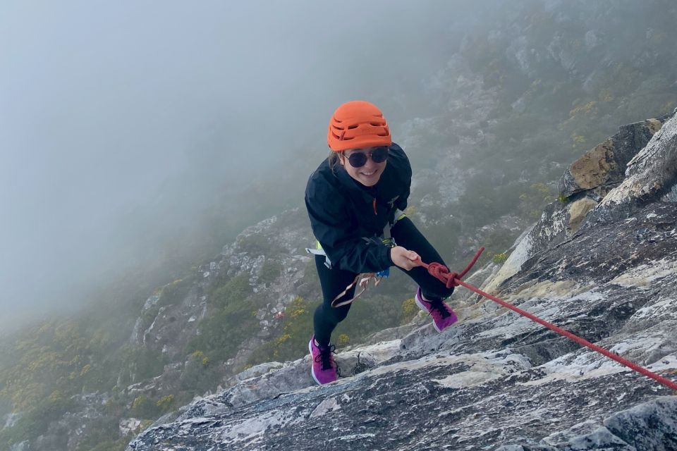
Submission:
{"label": "black jacket worn by the woman in the orange helmet", "polygon": [[305,206],[312,233],[334,267],[365,273],[392,266],[390,249],[379,237],[395,210],[407,207],[410,185],[409,159],[394,143],[373,187],[358,183],[343,166],[332,172],[327,159],[319,165],[308,180]]}

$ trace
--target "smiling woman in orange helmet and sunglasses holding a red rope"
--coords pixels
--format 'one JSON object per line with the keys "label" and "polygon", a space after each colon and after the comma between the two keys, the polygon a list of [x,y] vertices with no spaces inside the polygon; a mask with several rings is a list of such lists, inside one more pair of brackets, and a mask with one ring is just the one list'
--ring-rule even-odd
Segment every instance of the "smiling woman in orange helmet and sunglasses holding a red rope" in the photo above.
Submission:
{"label": "smiling woman in orange helmet and sunglasses holding a red rope", "polygon": [[403,214],[411,166],[392,142],[381,111],[367,101],[339,106],[329,121],[327,143],[329,159],[310,175],[305,190],[324,297],[315,310],[315,334],[308,344],[318,384],[336,381],[331,332],[346,319],[355,288],[365,277],[397,266],[419,285],[416,304],[432,316],[434,328],[441,332],[457,319],[444,304],[453,288],[419,266],[421,259],[444,262]]}

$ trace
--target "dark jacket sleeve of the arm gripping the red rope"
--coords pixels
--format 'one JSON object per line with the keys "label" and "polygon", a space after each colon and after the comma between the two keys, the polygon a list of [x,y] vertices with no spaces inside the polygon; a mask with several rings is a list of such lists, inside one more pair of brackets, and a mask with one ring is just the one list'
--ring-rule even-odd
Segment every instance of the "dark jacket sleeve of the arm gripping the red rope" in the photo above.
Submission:
{"label": "dark jacket sleeve of the arm gripping the red rope", "polygon": [[372,273],[392,266],[390,248],[377,238],[365,239],[350,230],[350,216],[340,203],[318,199],[307,190],[305,206],[310,226],[332,266],[353,273]]}

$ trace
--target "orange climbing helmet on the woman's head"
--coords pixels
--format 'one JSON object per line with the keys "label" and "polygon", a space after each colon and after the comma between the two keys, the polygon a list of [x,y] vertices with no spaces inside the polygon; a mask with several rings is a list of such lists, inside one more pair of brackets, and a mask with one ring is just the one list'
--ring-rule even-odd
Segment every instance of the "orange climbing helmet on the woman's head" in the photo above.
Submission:
{"label": "orange climbing helmet on the woman's head", "polygon": [[327,144],[334,152],[389,146],[392,142],[386,118],[368,101],[346,102],[334,111],[329,121]]}

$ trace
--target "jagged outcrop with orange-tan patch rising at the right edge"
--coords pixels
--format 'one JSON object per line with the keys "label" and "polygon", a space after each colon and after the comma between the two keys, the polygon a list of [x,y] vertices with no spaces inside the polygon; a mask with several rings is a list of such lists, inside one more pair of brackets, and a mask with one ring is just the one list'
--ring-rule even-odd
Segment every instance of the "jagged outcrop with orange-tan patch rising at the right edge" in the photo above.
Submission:
{"label": "jagged outcrop with orange-tan patch rising at the right edge", "polygon": [[636,205],[646,202],[642,196],[648,202],[661,196],[669,202],[677,183],[676,143],[677,116],[670,114],[625,125],[587,152],[563,175],[560,200],[547,205],[539,221],[518,239],[484,290],[497,290],[527,260],[556,247],[587,223],[630,217]]}

